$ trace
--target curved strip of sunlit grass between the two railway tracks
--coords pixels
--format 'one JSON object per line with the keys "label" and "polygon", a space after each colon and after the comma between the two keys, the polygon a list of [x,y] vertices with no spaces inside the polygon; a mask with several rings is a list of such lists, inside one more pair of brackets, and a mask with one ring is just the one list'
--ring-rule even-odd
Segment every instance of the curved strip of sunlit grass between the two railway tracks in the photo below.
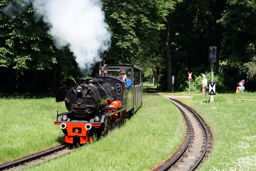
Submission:
{"label": "curved strip of sunlit grass between the two railway tracks", "polygon": [[28,170],[147,171],[176,150],[185,131],[179,110],[169,100],[144,95],[142,107],[124,126],[79,151]]}

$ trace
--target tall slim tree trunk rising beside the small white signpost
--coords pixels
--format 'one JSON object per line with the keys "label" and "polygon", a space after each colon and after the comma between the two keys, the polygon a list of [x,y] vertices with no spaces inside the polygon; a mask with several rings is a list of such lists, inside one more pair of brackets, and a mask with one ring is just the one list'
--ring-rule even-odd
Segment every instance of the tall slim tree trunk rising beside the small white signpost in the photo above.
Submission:
{"label": "tall slim tree trunk rising beside the small white signpost", "polygon": [[172,91],[172,82],[171,82],[171,48],[170,48],[170,29],[171,29],[171,20],[173,18],[173,12],[171,11],[168,20],[167,20],[167,29],[166,29],[166,52],[167,52],[167,91]]}

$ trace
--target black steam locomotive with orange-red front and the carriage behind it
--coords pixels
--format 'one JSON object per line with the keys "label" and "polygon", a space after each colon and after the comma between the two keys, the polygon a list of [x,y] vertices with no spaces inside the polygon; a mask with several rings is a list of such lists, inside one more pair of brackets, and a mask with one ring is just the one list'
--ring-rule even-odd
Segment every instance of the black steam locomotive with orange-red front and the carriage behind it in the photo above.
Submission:
{"label": "black steam locomotive with orange-red front and the carriage behind it", "polygon": [[[131,87],[118,78],[125,70]],[[65,101],[68,112],[58,114],[64,143],[91,143],[93,135],[106,135],[142,104],[142,68],[136,65],[107,65],[95,78],[80,78],[74,87],[61,87],[56,102]]]}

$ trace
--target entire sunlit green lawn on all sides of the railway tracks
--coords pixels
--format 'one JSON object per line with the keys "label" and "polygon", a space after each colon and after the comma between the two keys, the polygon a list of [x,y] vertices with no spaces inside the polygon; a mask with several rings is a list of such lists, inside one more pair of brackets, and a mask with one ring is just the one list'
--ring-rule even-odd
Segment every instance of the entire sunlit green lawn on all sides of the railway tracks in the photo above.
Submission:
{"label": "entire sunlit green lawn on all sides of the railway tracks", "polygon": [[[209,95],[191,95],[179,100],[203,117],[213,135],[211,154],[198,170],[256,170],[256,101],[245,100],[256,99],[256,93],[217,94],[214,103],[208,103]],[[0,163],[61,143],[61,129],[53,124],[57,110],[66,111],[65,105],[52,97],[0,98]],[[119,129],[79,151],[27,170],[148,171],[179,146],[185,134],[183,123],[166,98],[143,95],[142,107]]]}

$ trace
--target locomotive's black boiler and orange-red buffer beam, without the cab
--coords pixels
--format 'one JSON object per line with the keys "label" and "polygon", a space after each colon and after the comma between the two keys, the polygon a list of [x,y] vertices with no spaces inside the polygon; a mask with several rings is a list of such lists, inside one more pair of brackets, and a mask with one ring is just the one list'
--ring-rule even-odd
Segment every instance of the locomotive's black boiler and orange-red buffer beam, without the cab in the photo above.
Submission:
{"label": "locomotive's black boiler and orange-red buffer beam, without the cab", "polygon": [[122,103],[117,99],[117,89],[102,81],[93,79],[89,84],[61,87],[57,91],[56,101],[65,101],[68,110],[57,114],[54,122],[65,134],[64,143],[91,143],[93,135],[100,136],[109,128],[109,117]]}

